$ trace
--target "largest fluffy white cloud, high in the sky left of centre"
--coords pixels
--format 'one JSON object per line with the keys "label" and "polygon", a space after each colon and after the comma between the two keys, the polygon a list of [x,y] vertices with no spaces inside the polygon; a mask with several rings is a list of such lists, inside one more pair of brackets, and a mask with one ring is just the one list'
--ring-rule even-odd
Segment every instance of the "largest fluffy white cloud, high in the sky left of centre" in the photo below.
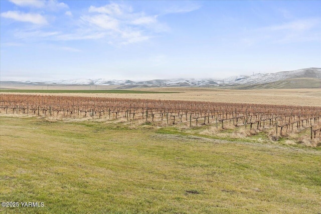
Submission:
{"label": "largest fluffy white cloud, high in the sky left of centre", "polygon": [[157,15],[133,12],[126,5],[111,3],[102,7],[90,6],[90,13],[81,17],[84,28],[105,33],[110,44],[131,44],[149,40],[168,28],[157,20]]}

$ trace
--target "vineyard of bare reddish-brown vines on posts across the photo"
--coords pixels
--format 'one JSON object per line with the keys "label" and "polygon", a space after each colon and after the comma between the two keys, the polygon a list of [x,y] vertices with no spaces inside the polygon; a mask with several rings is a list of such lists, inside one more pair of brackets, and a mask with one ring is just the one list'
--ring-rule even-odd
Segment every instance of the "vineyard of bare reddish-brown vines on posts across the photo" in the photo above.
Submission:
{"label": "vineyard of bare reddish-brown vines on posts across the photo", "polygon": [[227,123],[250,129],[275,126],[276,135],[284,135],[289,129],[310,128],[311,138],[321,135],[321,107],[315,106],[20,94],[0,96],[0,107],[6,114],[123,117],[146,122],[166,121],[167,124],[187,122],[191,127],[192,124],[214,124],[222,129]]}

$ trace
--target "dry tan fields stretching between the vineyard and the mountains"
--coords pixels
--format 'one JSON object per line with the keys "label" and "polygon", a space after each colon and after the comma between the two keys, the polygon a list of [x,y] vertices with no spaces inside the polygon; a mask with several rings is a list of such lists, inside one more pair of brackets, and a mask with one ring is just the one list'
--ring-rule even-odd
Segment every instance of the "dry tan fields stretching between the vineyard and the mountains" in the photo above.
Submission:
{"label": "dry tan fields stretching between the vineyard and the mountains", "polygon": [[[4,87],[4,86],[2,86]],[[5,87],[4,87],[5,88]],[[6,87],[15,89],[47,89],[47,86]],[[59,90],[103,90],[115,89],[117,86],[49,86]],[[275,105],[307,105],[321,106],[321,89],[263,89],[232,90],[218,88],[139,88],[139,91],[179,92],[173,94],[108,94],[108,93],[63,93],[66,96],[118,97],[157,100],[194,100],[228,103],[256,103]],[[52,94],[51,95],[55,95]]]}

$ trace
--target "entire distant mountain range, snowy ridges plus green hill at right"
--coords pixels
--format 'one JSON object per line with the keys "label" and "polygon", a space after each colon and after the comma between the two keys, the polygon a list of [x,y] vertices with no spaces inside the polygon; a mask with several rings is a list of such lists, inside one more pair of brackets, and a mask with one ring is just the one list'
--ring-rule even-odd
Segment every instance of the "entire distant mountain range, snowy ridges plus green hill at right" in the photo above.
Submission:
{"label": "entire distant mountain range, snowy ridges plus green hill at right", "polygon": [[73,79],[48,82],[33,81],[1,81],[0,84],[27,85],[117,85],[119,89],[135,87],[227,87],[236,89],[260,88],[321,88],[321,68],[305,68],[295,71],[253,74],[251,76],[233,76],[225,79],[169,79],[169,80],[104,80],[104,79]]}

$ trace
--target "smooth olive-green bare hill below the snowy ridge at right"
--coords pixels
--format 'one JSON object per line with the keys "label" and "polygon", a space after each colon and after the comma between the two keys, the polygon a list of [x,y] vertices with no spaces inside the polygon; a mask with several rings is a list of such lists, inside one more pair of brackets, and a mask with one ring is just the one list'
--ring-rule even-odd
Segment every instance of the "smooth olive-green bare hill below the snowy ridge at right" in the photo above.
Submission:
{"label": "smooth olive-green bare hill below the snowy ridge at right", "polygon": [[281,80],[272,83],[257,85],[240,85],[233,89],[292,89],[292,88],[321,88],[321,79],[317,78],[296,78]]}

